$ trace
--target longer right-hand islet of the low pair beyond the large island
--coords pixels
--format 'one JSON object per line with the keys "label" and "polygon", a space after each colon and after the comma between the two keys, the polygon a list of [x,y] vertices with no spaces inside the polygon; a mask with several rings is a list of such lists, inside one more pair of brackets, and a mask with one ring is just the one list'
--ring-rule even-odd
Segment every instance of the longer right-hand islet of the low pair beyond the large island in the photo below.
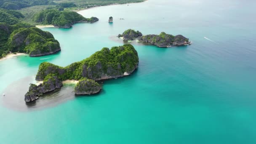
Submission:
{"label": "longer right-hand islet of the low pair beyond the large island", "polygon": [[138,38],[139,41],[157,45],[157,47],[169,47],[171,45],[189,45],[189,39],[182,35],[168,35],[161,32],[160,35],[144,35]]}

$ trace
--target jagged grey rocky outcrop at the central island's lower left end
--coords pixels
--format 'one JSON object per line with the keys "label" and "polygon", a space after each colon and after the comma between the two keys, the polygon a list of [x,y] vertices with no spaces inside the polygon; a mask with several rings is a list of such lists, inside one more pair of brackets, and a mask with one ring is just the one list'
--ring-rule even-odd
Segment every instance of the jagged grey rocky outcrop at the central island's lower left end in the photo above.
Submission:
{"label": "jagged grey rocky outcrop at the central island's lower left end", "polygon": [[24,100],[26,102],[35,101],[39,98],[43,93],[47,93],[50,91],[54,91],[56,88],[61,88],[62,83],[61,80],[56,76],[48,75],[45,77],[45,80],[40,85],[31,84],[29,87],[29,91],[25,94]]}

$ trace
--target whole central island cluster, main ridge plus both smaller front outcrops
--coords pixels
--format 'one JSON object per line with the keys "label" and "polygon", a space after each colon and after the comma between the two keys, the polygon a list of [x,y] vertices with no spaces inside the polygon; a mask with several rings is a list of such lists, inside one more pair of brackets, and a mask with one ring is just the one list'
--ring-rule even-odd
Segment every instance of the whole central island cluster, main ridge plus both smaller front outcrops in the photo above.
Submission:
{"label": "whole central island cluster, main ridge plus both smaller front outcrops", "polygon": [[101,86],[97,80],[106,80],[130,75],[138,68],[138,53],[131,44],[123,46],[102,48],[87,59],[59,67],[43,62],[40,64],[36,80],[42,81],[40,85],[31,84],[25,95],[25,101],[35,101],[43,93],[60,88],[61,81],[79,80],[75,86],[75,94],[99,93]]}

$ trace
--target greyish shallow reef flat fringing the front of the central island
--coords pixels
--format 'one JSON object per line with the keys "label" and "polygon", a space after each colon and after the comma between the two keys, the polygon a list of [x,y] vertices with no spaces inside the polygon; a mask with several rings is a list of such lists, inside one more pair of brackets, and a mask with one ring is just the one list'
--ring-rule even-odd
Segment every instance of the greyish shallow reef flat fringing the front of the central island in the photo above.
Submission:
{"label": "greyish shallow reef flat fringing the front of the central island", "polygon": [[[133,72],[132,75],[113,78],[109,80],[99,80],[97,81],[101,87],[106,84],[118,84],[122,83],[127,78],[136,77],[137,69]],[[35,83],[35,77],[25,77],[20,80],[17,80],[10,85],[8,85],[2,93],[5,93],[5,96],[2,96],[2,102],[5,107],[10,109],[18,110],[18,111],[29,111],[29,110],[38,110],[47,107],[55,107],[61,103],[66,101],[70,101],[72,99],[81,99],[87,97],[96,97],[101,94],[105,94],[106,91],[101,89],[99,93],[91,94],[91,95],[75,95],[74,84],[64,84],[61,88],[51,91],[49,93],[45,93],[39,97],[36,101],[32,101],[26,103],[24,101],[24,95],[27,93],[29,89],[29,83]]]}

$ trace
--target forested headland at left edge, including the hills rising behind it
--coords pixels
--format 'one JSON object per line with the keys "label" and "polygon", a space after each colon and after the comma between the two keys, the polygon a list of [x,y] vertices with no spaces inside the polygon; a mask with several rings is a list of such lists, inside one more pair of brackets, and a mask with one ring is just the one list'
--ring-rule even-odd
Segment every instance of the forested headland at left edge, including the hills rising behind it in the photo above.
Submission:
{"label": "forested headland at left edge, including the hills rising behind it", "polygon": [[10,52],[42,56],[60,51],[60,45],[50,32],[21,23],[22,14],[0,9],[0,58]]}

